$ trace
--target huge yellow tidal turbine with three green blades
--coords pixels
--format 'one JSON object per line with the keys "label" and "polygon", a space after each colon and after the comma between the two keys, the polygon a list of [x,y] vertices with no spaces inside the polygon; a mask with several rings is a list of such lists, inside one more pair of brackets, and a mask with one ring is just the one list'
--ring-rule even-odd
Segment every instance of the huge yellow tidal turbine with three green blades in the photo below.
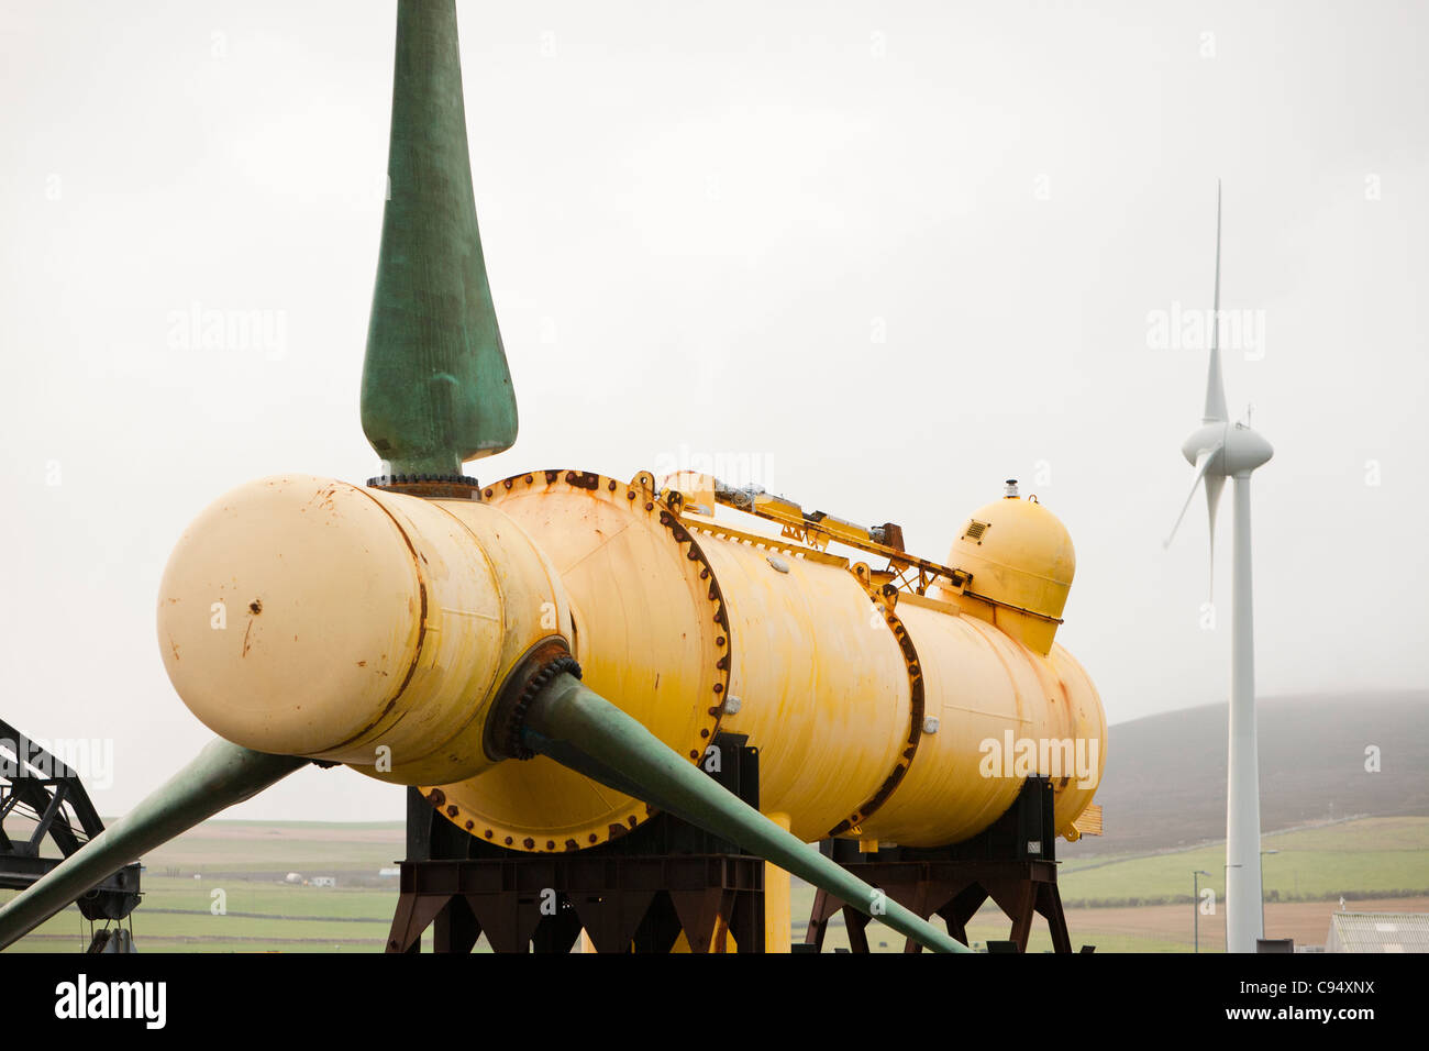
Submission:
{"label": "huge yellow tidal turbine with three green blades", "polygon": [[[947,878],[946,908],[929,881],[900,904],[906,881],[883,879],[885,892],[812,842],[950,858],[987,832],[1032,874],[1016,895],[990,891],[1017,912],[1013,939],[1042,912],[1070,951],[1052,841],[1083,831],[1106,718],[1055,642],[1076,565],[1066,528],[1013,485],[940,565],[905,551],[895,523],[855,526],[687,472],[479,485],[464,465],[514,443],[517,410],[476,223],[453,0],[399,0],[389,173],[362,383],[383,473],[364,486],[259,479],[190,525],[160,582],[157,635],[174,692],[219,739],[0,907],[0,948],[312,762],[420,789],[469,849],[512,857],[580,859],[663,811],[763,858],[782,871],[770,881],[797,875],[940,952],[969,951],[969,898]],[[716,520],[716,505],[747,520]],[[1043,748],[1045,766],[985,772],[982,745],[1006,735],[1010,751],[1013,731],[1085,745],[1090,768]],[[709,776],[726,734],[759,754],[757,808]],[[700,878],[700,895],[729,897],[723,877]],[[687,881],[664,882],[689,905]],[[640,911],[580,889],[573,909],[596,947],[630,948]],[[773,897],[787,908],[786,889]],[[526,951],[529,931],[476,918],[497,951]],[[680,922],[693,951],[716,944],[697,917]],[[775,927],[787,948],[787,921]]]}

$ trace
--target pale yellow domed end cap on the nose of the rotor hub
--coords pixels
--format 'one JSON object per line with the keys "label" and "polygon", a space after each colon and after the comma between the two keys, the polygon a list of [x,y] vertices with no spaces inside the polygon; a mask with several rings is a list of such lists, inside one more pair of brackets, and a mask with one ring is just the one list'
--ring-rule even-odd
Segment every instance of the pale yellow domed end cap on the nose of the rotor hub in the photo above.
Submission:
{"label": "pale yellow domed end cap on the nose of the rotor hub", "polygon": [[229,492],[184,532],[160,585],[159,643],[179,696],[220,736],[336,758],[400,694],[422,603],[382,505],[283,475]]}

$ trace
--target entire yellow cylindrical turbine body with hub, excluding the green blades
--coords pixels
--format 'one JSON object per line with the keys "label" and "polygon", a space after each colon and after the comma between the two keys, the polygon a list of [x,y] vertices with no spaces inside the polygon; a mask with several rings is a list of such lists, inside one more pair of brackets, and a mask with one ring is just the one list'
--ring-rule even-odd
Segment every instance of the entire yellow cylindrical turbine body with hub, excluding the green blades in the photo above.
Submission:
{"label": "entire yellow cylindrical turbine body with hub, excluding the green blades", "polygon": [[955,545],[969,595],[939,599],[682,512],[647,473],[532,472],[472,496],[292,475],[217,500],[160,593],[179,695],[234,744],[419,785],[472,835],[569,851],[652,814],[513,746],[529,655],[569,651],[692,764],[732,761],[716,734],[746,735],[762,809],[802,839],[959,842],[1030,774],[1055,778],[1055,827],[1079,835],[1106,718],[1052,641],[1075,558],[1040,505],[979,510],[982,555]]}

